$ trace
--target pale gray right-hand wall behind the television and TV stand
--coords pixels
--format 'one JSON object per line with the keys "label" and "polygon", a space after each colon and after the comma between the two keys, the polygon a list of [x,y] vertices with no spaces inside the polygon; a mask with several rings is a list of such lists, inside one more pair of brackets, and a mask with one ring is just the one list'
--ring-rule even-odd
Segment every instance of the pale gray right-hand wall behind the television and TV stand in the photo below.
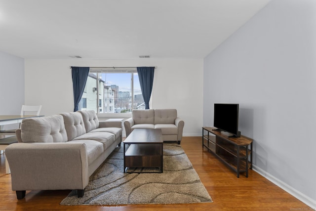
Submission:
{"label": "pale gray right-hand wall behind the television and TV stand", "polygon": [[316,1],[273,0],[204,59],[203,125],[214,103],[239,103],[254,165],[316,202]]}

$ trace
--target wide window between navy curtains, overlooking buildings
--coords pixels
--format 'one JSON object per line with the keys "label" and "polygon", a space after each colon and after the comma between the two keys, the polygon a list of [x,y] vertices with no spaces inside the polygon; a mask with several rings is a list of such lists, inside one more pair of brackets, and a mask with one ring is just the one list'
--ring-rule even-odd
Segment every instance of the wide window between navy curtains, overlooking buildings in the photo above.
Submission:
{"label": "wide window between navy curtains, overlooking buildings", "polygon": [[84,90],[81,101],[86,105],[79,110],[115,114],[145,106],[136,68],[90,68]]}

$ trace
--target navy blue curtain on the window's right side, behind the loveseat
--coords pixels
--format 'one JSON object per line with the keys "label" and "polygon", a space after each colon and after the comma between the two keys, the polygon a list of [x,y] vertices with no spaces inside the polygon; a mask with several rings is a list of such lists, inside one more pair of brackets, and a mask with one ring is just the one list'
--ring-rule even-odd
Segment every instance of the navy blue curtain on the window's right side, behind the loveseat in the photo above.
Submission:
{"label": "navy blue curtain on the window's right side, behind the loveseat", "polygon": [[142,90],[145,109],[149,109],[149,99],[152,94],[153,82],[154,82],[155,67],[137,67],[137,73]]}

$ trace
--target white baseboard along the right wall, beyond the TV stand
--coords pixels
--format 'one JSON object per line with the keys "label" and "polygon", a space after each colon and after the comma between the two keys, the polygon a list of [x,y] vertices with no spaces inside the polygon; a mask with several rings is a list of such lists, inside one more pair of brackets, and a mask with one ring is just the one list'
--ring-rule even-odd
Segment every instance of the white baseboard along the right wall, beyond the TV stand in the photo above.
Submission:
{"label": "white baseboard along the right wall, beyond the TV stand", "polygon": [[312,198],[306,196],[305,194],[303,194],[300,191],[294,189],[293,187],[291,187],[288,184],[282,182],[278,178],[274,177],[270,173],[266,172],[263,169],[260,169],[259,167],[255,166],[255,165],[253,165],[252,169],[254,171],[256,171],[257,173],[259,173],[260,175],[262,175],[263,177],[265,177],[266,179],[268,179],[269,181],[271,181],[274,184],[276,184],[278,187],[282,188],[283,190],[285,190],[286,192],[288,192],[289,194],[294,196],[295,198],[297,198],[298,200],[300,200],[301,202],[303,202],[304,204],[306,204],[307,206],[309,206],[312,209],[316,210],[316,201],[313,200]]}

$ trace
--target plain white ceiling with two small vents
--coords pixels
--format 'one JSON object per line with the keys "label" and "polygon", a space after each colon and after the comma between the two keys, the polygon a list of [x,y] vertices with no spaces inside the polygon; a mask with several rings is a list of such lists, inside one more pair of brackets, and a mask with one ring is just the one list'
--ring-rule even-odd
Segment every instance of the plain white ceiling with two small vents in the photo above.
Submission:
{"label": "plain white ceiling with two small vents", "polygon": [[203,58],[270,0],[0,0],[22,58]]}

